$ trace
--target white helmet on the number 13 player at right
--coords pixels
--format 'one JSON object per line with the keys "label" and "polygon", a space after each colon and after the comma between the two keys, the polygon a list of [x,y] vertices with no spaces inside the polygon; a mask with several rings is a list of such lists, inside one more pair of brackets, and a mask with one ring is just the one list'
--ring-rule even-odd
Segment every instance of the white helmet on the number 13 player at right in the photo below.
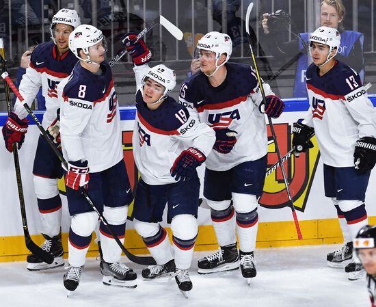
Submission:
{"label": "white helmet on the number 13 player at right", "polygon": [[[340,32],[331,27],[319,27],[310,34],[310,43],[311,42],[318,42],[319,44],[326,44],[329,46],[329,54],[327,55],[326,61],[319,65],[323,66],[336,56],[338,47],[340,46]],[[334,50],[336,50],[336,53],[330,57],[330,53]]]}

